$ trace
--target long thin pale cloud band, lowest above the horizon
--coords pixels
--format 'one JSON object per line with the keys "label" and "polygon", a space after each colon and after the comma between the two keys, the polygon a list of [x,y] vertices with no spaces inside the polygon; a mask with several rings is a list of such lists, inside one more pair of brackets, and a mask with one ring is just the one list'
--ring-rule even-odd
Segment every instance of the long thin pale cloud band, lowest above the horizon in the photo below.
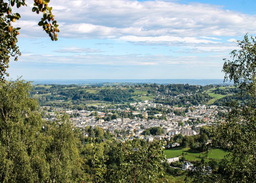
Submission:
{"label": "long thin pale cloud band, lowest above the horizon", "polygon": [[[39,59],[39,60],[38,60]],[[172,67],[221,67],[222,59],[216,56],[164,56],[164,55],[72,55],[72,56],[45,56],[39,54],[26,54],[19,58],[19,62],[44,64],[72,64],[72,65],[104,65],[104,66],[161,66]]]}

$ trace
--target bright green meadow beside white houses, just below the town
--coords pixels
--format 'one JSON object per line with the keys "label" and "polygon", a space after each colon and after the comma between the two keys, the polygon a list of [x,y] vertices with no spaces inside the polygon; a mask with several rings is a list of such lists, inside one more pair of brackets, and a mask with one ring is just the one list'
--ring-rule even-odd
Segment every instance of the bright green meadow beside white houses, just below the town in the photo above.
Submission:
{"label": "bright green meadow beside white houses, just below the town", "polygon": [[[165,150],[166,158],[181,156],[182,153],[184,154],[185,159],[189,161],[201,160],[201,157],[204,156],[204,153],[201,153],[199,151],[192,151],[189,147],[187,148],[176,147],[176,148]],[[220,159],[223,159],[225,155],[227,155],[227,153],[223,149],[213,149],[212,151],[209,151],[208,158],[220,160]]]}

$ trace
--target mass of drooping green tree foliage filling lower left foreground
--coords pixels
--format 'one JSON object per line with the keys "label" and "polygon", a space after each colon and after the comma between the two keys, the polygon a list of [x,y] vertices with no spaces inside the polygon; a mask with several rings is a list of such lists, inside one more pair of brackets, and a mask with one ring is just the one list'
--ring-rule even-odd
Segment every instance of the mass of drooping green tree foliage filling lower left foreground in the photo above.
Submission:
{"label": "mass of drooping green tree foliage filling lower left foreground", "polygon": [[42,130],[30,82],[0,83],[0,181],[74,182],[84,177],[75,131],[67,115]]}

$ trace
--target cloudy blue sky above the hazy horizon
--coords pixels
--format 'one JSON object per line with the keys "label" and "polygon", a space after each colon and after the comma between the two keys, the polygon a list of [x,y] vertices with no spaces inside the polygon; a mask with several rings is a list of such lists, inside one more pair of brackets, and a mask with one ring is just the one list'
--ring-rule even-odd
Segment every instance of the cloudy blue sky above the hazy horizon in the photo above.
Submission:
{"label": "cloudy blue sky above the hazy horizon", "polygon": [[27,5],[13,79],[223,79],[235,41],[256,35],[252,0],[51,0],[57,42]]}

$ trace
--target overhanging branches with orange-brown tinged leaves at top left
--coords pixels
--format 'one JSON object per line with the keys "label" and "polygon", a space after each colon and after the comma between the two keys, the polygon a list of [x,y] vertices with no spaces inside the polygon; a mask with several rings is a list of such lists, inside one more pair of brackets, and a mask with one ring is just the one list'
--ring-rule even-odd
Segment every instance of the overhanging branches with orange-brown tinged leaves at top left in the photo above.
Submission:
{"label": "overhanging branches with orange-brown tinged leaves at top left", "polygon": [[[43,13],[43,17],[38,23],[39,26],[43,27],[43,30],[51,37],[54,41],[57,41],[57,22],[54,20],[54,15],[51,10],[52,7],[48,6],[50,0],[34,0],[33,12],[39,14]],[[4,75],[9,76],[6,69],[9,67],[10,56],[14,57],[17,61],[17,56],[21,53],[16,45],[17,35],[19,34],[20,27],[14,28],[11,23],[21,18],[19,13],[13,13],[11,7],[16,5],[17,8],[21,6],[27,6],[25,0],[10,0],[5,3],[3,0],[0,1],[0,80],[4,81]]]}

